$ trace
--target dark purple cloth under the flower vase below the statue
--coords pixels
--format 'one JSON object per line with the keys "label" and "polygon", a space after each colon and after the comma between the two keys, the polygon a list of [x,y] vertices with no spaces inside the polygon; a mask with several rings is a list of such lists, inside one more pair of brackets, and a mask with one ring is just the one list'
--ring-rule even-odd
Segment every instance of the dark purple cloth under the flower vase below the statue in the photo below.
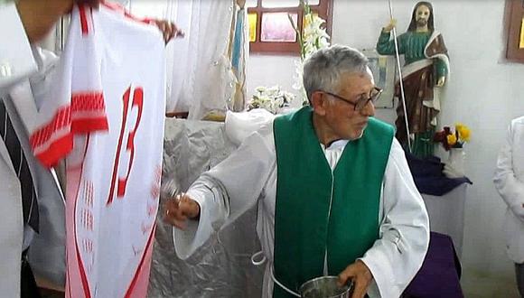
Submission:
{"label": "dark purple cloth under the flower vase below the statue", "polygon": [[441,163],[440,158],[436,156],[420,159],[406,152],[406,159],[416,188],[421,193],[442,196],[449,191],[453,191],[455,187],[462,183],[473,184],[467,177],[447,178],[444,176],[442,172],[444,163]]}

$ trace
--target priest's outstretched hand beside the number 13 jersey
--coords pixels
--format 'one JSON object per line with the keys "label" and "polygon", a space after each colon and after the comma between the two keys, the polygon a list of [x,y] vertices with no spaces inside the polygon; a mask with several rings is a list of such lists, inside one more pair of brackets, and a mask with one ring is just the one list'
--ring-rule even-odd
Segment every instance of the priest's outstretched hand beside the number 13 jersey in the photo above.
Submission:
{"label": "priest's outstretched hand beside the number 13 jersey", "polygon": [[187,220],[198,218],[200,213],[200,205],[185,193],[167,200],[164,204],[164,222],[176,228],[184,229]]}

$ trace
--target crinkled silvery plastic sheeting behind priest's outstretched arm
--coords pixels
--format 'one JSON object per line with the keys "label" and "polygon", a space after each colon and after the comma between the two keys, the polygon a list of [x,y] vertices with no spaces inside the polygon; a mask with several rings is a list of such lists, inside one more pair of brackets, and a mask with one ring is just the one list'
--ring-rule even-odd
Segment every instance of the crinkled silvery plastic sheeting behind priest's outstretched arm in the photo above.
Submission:
{"label": "crinkled silvery plastic sheeting behind priest's outstretched arm", "polygon": [[[174,179],[186,191],[201,172],[234,149],[223,123],[168,119],[163,182]],[[187,260],[176,256],[172,227],[162,221],[162,210],[158,214],[149,297],[261,296],[264,266],[252,265],[250,260],[260,250],[256,207],[222,228]]]}

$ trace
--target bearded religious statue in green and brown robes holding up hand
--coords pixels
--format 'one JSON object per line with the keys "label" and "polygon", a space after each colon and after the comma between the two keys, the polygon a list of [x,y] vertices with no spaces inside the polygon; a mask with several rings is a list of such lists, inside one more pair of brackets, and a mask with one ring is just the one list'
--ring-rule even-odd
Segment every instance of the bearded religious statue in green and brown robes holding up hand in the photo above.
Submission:
{"label": "bearded religious statue in green and brown robes holding up hand", "polygon": [[[419,2],[413,8],[407,32],[398,36],[398,54],[404,54],[402,82],[406,100],[406,113],[410,137],[414,137],[411,151],[418,157],[433,155],[433,135],[436,115],[440,111],[439,91],[449,73],[449,58],[442,34],[435,30],[433,5]],[[390,32],[396,21],[382,29],[377,42],[377,51],[382,55],[395,55],[395,41]],[[401,98],[399,83],[395,96]],[[407,147],[407,130],[404,107],[399,100],[397,107],[397,138]]]}

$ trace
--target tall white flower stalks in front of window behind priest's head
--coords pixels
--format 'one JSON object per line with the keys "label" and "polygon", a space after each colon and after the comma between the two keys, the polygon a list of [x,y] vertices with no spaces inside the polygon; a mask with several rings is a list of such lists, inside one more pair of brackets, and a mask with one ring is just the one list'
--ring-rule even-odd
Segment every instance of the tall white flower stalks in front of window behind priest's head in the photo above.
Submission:
{"label": "tall white flower stalks in front of window behind priest's head", "polygon": [[324,28],[325,20],[313,13],[307,0],[300,0],[300,5],[304,10],[303,33],[300,33],[291,15],[288,14],[287,17],[298,36],[298,43],[300,44],[300,61],[295,61],[296,70],[293,88],[299,90],[303,105],[307,105],[307,95],[305,94],[302,81],[304,60],[311,56],[313,52],[328,47],[330,45],[330,36]]}

